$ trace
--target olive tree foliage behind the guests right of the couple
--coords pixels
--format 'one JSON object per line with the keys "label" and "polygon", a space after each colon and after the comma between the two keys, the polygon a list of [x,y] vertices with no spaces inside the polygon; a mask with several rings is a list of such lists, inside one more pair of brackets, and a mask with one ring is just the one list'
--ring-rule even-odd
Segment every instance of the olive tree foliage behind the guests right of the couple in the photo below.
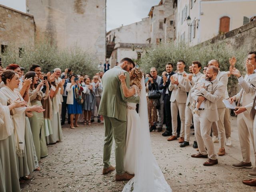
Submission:
{"label": "olive tree foliage behind the guests right of the couple", "polygon": [[[236,57],[236,68],[245,74],[245,62],[247,51],[243,48],[239,50],[232,50],[226,43],[216,43],[207,45],[197,45],[190,47],[184,42],[175,44],[170,42],[168,44],[160,44],[152,46],[147,50],[144,50],[141,59],[138,61],[140,68],[145,73],[150,72],[151,67],[156,67],[158,75],[165,70],[165,65],[171,62],[176,70],[176,64],[178,60],[184,60],[186,63],[186,72],[188,72],[188,66],[192,64],[192,61],[199,61],[202,64],[202,68],[208,64],[212,59],[216,59],[220,63],[221,71],[229,71],[229,58]],[[202,72],[202,70],[201,70]],[[237,84],[237,78],[230,76],[228,80],[228,92],[231,93],[234,85]]]}

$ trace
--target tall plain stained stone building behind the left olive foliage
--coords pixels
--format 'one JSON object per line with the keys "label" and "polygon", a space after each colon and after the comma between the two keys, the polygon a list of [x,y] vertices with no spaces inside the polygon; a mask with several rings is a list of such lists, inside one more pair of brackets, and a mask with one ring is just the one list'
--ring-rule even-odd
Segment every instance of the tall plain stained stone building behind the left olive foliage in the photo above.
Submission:
{"label": "tall plain stained stone building behind the left olive foliage", "polygon": [[36,40],[50,37],[58,48],[79,46],[106,57],[106,0],[26,0],[26,12],[34,16]]}

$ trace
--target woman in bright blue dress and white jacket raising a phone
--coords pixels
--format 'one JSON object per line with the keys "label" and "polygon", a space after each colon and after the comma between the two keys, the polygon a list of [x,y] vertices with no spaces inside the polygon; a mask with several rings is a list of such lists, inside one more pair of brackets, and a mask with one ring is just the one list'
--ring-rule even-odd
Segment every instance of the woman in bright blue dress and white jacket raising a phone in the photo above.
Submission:
{"label": "woman in bright blue dress and white jacket raising a phone", "polygon": [[[68,92],[67,104],[68,104],[68,114],[70,114],[70,128],[74,129],[75,126],[79,127],[77,124],[79,114],[82,114],[82,104],[81,96],[83,88],[79,84],[78,79],[75,80],[76,76],[71,75],[70,77],[71,83],[68,83],[66,86],[66,91]],[[78,100],[77,100],[77,99]],[[75,117],[75,119],[74,119]],[[75,120],[75,123],[74,123]]]}

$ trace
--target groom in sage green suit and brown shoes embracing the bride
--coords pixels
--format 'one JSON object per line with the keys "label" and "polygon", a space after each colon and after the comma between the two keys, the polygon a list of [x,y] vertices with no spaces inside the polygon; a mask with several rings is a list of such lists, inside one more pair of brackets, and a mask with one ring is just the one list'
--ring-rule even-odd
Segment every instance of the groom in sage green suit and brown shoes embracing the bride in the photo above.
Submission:
{"label": "groom in sage green suit and brown shoes embracing the bride", "polygon": [[128,71],[135,67],[130,58],[123,58],[118,66],[108,70],[102,77],[103,92],[98,114],[104,116],[105,140],[102,174],[115,170],[110,164],[113,136],[116,143],[116,181],[130,180],[134,175],[124,172],[124,147],[126,143],[126,102],[139,103],[139,97],[124,97],[120,72],[126,74],[126,85],[130,87]]}

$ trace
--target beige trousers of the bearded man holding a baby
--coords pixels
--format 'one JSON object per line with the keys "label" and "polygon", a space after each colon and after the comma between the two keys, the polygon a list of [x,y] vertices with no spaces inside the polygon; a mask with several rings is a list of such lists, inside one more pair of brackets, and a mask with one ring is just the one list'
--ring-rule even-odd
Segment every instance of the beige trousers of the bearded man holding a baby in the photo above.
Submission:
{"label": "beige trousers of the bearded man holding a baby", "polygon": [[194,128],[199,152],[202,155],[207,155],[208,153],[210,159],[216,160],[217,157],[214,152],[212,137],[210,136],[212,122],[207,119],[207,112],[205,110],[199,110],[198,114],[194,114]]}

